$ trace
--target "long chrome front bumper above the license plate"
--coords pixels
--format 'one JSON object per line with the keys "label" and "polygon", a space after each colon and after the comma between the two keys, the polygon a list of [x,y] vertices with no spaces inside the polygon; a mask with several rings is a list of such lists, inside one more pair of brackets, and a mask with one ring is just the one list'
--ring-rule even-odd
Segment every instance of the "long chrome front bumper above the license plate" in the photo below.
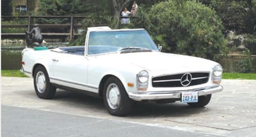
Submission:
{"label": "long chrome front bumper above the license plate", "polygon": [[129,98],[132,100],[141,101],[141,100],[161,100],[161,99],[171,99],[171,98],[181,98],[181,93],[184,92],[198,92],[198,96],[208,95],[217,93],[223,90],[221,85],[197,88],[194,90],[186,90],[186,91],[155,91],[155,92],[140,92],[140,93],[128,93]]}

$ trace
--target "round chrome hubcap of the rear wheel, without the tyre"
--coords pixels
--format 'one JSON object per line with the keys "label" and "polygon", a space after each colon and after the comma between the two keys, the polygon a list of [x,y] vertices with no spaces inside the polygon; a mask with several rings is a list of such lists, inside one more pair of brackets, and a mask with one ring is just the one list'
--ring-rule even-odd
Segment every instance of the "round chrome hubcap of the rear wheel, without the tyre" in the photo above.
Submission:
{"label": "round chrome hubcap of the rear wheel, without the tyre", "polygon": [[46,78],[45,78],[45,74],[43,74],[42,71],[37,72],[36,74],[36,87],[37,87],[37,91],[39,93],[44,93],[45,89],[46,89]]}

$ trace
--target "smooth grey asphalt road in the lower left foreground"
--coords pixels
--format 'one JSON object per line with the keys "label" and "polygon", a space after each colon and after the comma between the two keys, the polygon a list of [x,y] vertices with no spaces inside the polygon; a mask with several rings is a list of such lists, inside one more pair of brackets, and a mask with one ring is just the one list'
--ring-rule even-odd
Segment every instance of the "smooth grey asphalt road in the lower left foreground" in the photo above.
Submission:
{"label": "smooth grey asphalt road in the lower left foreground", "polygon": [[[120,120],[2,106],[2,136],[211,136]],[[217,136],[216,136],[217,137]]]}

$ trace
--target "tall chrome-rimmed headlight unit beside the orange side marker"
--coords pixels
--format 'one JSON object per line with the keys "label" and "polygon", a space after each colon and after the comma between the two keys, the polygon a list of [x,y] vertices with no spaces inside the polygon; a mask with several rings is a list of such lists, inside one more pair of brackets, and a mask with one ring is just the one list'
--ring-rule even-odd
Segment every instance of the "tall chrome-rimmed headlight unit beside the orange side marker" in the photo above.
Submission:
{"label": "tall chrome-rimmed headlight unit beside the orange side marker", "polygon": [[149,74],[147,71],[143,70],[137,74],[137,90],[146,91],[148,87]]}

